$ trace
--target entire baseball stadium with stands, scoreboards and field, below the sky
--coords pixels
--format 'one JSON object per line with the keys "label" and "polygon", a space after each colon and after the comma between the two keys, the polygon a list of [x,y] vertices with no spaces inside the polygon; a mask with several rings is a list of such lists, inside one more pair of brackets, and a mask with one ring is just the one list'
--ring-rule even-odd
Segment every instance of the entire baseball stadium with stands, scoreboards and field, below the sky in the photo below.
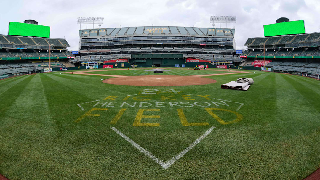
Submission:
{"label": "entire baseball stadium with stands, scoreboards and field, below the sky", "polygon": [[0,180],[320,179],[320,33],[298,21],[244,51],[227,27],[80,24],[71,51],[10,22]]}

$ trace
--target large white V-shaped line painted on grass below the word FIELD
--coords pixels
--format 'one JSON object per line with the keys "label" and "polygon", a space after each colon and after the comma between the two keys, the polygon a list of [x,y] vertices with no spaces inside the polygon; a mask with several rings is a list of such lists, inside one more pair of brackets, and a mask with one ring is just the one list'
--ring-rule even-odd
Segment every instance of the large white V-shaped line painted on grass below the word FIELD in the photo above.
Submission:
{"label": "large white V-shaped line painted on grass below the word FIELD", "polygon": [[162,168],[167,169],[169,168],[175,161],[179,160],[183,155],[185,155],[186,153],[188,153],[188,151],[190,151],[190,149],[192,149],[193,147],[195,147],[198,143],[200,143],[200,141],[202,139],[204,139],[206,136],[208,136],[208,134],[211,133],[211,131],[216,128],[214,126],[212,126],[210,129],[208,129],[202,136],[200,136],[199,138],[197,138],[193,143],[191,143],[191,145],[189,145],[186,149],[184,149],[183,151],[181,151],[178,155],[176,155],[175,157],[171,158],[171,160],[169,160],[168,162],[164,162],[163,160],[160,160],[159,158],[157,158],[155,155],[153,155],[152,153],[150,153],[149,151],[147,151],[146,149],[144,149],[143,147],[141,147],[140,145],[138,145],[136,142],[134,142],[132,139],[130,139],[129,137],[127,137],[124,133],[120,132],[118,129],[116,129],[115,127],[111,127],[112,130],[114,130],[118,135],[120,135],[121,137],[123,137],[125,140],[127,140],[130,144],[132,144],[134,147],[136,147],[141,153],[146,154],[149,158],[151,158],[152,160],[156,161],[156,163],[158,163]]}

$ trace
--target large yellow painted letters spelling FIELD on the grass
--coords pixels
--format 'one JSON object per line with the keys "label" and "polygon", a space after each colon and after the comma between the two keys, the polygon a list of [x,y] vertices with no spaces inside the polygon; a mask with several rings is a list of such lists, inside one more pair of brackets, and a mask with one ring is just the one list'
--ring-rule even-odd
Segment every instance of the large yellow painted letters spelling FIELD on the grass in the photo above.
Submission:
{"label": "large yellow painted letters spelling FIELD on the grass", "polygon": [[[228,109],[204,108],[204,110],[208,113],[208,115],[210,114],[212,116],[212,118],[214,118],[216,121],[218,121],[220,124],[223,124],[223,125],[239,122],[243,119],[243,116],[240,113],[230,111]],[[79,122],[87,116],[100,116],[100,114],[93,114],[93,111],[108,111],[108,108],[92,108],[88,112],[86,112],[82,116],[80,116],[78,119],[76,119],[75,122]],[[120,109],[119,112],[113,117],[110,124],[116,124],[119,120],[121,120],[121,117],[125,111],[126,111],[126,109]],[[160,111],[160,109],[139,109],[132,125],[136,126],[136,127],[139,127],[139,126],[160,126],[160,123],[141,123],[142,119],[160,118],[159,115],[144,115],[145,111]],[[232,121],[224,121],[217,114],[215,114],[214,111],[225,111],[228,113],[233,113],[236,115],[236,119],[234,119]],[[181,121],[182,126],[209,126],[208,122],[188,122],[182,109],[177,109],[177,113],[178,113],[178,116],[179,116],[179,119]]]}

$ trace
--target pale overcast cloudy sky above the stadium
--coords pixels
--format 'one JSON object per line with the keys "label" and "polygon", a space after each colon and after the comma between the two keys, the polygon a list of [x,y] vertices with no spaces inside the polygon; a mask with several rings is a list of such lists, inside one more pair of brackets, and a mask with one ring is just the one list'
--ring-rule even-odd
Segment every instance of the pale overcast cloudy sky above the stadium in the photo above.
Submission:
{"label": "pale overcast cloudy sky above the stadium", "polygon": [[[280,17],[289,18],[290,21],[304,20],[306,33],[320,31],[319,0],[5,0],[1,5],[0,34],[8,34],[9,21],[32,19],[39,25],[50,26],[51,38],[66,38],[70,50],[78,49],[77,17],[101,16],[104,17],[101,27],[112,28],[152,24],[212,27],[210,16],[236,16],[236,49],[238,42],[242,49],[241,45],[249,36],[262,37],[263,25],[273,24]],[[91,27],[88,25],[88,28]],[[219,24],[216,23],[215,27],[219,27]]]}

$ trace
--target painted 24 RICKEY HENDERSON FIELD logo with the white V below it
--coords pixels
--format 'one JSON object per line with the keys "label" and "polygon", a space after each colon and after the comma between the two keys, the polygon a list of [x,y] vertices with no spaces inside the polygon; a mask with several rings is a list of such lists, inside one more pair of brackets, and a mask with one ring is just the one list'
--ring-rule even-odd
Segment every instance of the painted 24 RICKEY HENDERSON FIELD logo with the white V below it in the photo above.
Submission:
{"label": "painted 24 RICKEY HENDERSON FIELD logo with the white V below it", "polygon": [[[130,126],[133,126],[132,128],[137,128],[137,130],[141,132],[145,131],[146,129],[139,127],[155,127],[155,131],[157,131],[159,128],[161,128],[161,126],[166,126],[164,121],[178,121],[179,124],[184,127],[207,127],[208,129],[204,132],[204,134],[198,138],[195,137],[195,140],[189,146],[168,161],[159,159],[150,151],[141,147],[137,142],[133,141],[124,133],[125,130],[121,130],[123,131],[121,132],[119,128],[117,129],[115,127],[111,127],[115,133],[124,138],[141,153],[154,160],[162,168],[168,169],[172,164],[188,153],[189,150],[200,143],[200,141],[207,137],[212,130],[216,128],[215,126],[211,125],[211,123],[216,125],[226,125],[241,121],[243,116],[237,111],[243,105],[243,103],[239,102],[213,98],[212,95],[186,94],[174,89],[144,89],[137,94],[131,94],[123,97],[109,95],[102,100],[98,99],[77,104],[77,106],[82,111],[85,111],[85,113],[77,118],[75,122],[85,123],[89,116],[92,116],[93,118],[103,116],[103,121],[106,121],[105,118],[108,118],[107,123],[112,126],[120,126],[121,128],[121,125],[126,123]],[[201,114],[200,116],[202,118],[196,118],[196,120],[190,118],[190,112],[192,112],[190,110],[192,110],[192,108],[194,108],[194,112]],[[111,111],[113,109],[118,109],[113,115],[108,114],[106,117],[103,115],[106,114],[106,111]],[[168,111],[171,111],[170,120],[163,116],[164,113],[162,113]],[[132,117],[132,112],[134,113],[135,117]],[[130,113],[129,116],[128,113]],[[207,117],[205,117],[205,115],[207,115]],[[229,119],[226,120],[226,117]],[[119,121],[120,123],[118,123]],[[139,135],[139,133],[136,135]],[[130,136],[135,135],[131,134]],[[152,144],[152,142],[150,143]]]}

